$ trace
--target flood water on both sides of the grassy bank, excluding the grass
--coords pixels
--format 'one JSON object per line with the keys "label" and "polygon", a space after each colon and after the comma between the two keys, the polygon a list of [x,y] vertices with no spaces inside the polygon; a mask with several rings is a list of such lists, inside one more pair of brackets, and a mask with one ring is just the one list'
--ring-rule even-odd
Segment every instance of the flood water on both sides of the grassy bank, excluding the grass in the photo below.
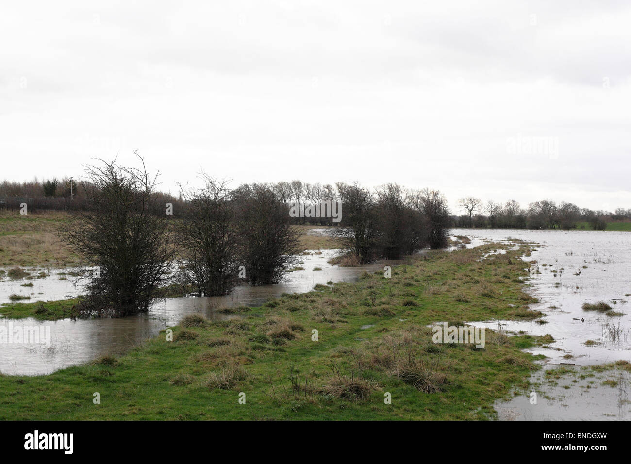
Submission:
{"label": "flood water on both sides of the grassy bank, excluding the grass", "polygon": [[[310,234],[325,234],[312,229]],[[490,320],[473,325],[501,330],[510,335],[550,334],[555,342],[529,349],[545,355],[544,369],[530,379],[538,402],[529,392],[519,392],[508,401],[497,402],[498,418],[504,420],[628,419],[628,374],[615,379],[593,366],[631,360],[631,234],[587,230],[500,230],[457,229],[473,247],[488,242],[531,243],[523,256],[528,269],[526,291],[536,297],[531,309],[545,313],[534,320]],[[455,247],[453,247],[455,248]],[[261,287],[240,286],[223,297],[177,297],[159,300],[151,311],[121,319],[63,319],[38,321],[11,319],[22,326],[50,328],[48,347],[4,343],[0,345],[0,372],[4,374],[47,374],[63,367],[84,364],[97,357],[138,345],[160,330],[179,323],[187,314],[208,319],[240,317],[225,308],[258,306],[283,293],[301,293],[317,284],[355,282],[365,271],[383,270],[385,261],[358,267],[329,264],[337,250],[310,251],[300,256],[296,270],[285,282]],[[71,270],[27,269],[30,279],[0,280],[0,303],[9,295],[30,297],[27,302],[61,300],[80,295]],[[32,285],[29,285],[32,284]],[[584,304],[604,302],[606,311],[583,309]],[[1,312],[1,308],[0,308]],[[9,319],[0,319],[8,324]],[[563,369],[550,381],[546,371]]]}

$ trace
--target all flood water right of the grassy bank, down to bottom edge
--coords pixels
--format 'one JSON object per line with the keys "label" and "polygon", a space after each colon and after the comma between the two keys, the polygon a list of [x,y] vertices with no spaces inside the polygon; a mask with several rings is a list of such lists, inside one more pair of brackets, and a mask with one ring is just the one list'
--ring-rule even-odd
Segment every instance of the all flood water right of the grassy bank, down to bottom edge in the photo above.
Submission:
{"label": "all flood water right of the grassy bank, down to bottom edge", "polygon": [[[544,369],[533,374],[531,383],[541,384],[543,372],[560,364],[580,369],[578,366],[607,364],[620,359],[631,362],[631,234],[512,229],[452,232],[472,238],[472,244],[507,241],[508,237],[539,244],[534,246],[532,256],[523,259],[531,263],[527,291],[539,300],[531,309],[545,312],[543,320],[547,323],[473,323],[493,330],[501,327],[509,333],[549,333],[555,338],[556,342],[550,343],[548,348],[528,350],[548,357],[543,363]],[[610,316],[582,309],[586,302],[599,301],[622,314]],[[586,344],[587,340],[591,342]],[[628,374],[609,372],[608,376],[617,376],[618,386],[603,386],[590,377],[575,383],[570,375],[559,380],[558,385],[543,383],[545,395],[540,394],[536,404],[531,404],[527,395],[519,395],[508,402],[496,403],[495,408],[500,419],[505,420],[631,419]]]}

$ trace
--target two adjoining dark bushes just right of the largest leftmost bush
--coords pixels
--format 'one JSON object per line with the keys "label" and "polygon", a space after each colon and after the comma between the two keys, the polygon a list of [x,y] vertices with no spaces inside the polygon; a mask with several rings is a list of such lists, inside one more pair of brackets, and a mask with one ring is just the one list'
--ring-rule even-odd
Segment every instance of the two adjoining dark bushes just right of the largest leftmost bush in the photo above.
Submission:
{"label": "two adjoining dark bushes just right of the largest leftmost bush", "polygon": [[245,184],[230,191],[224,181],[204,173],[201,179],[201,189],[180,187],[179,282],[207,296],[227,294],[239,282],[280,282],[297,263],[299,231],[278,189]]}

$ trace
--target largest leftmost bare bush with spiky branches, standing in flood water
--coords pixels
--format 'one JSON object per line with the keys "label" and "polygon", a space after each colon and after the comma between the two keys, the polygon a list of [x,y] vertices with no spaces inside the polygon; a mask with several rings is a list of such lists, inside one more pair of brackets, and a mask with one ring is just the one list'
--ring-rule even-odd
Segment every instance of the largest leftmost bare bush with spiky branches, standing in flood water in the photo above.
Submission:
{"label": "largest leftmost bare bush with spiky branches, standing in flood water", "polygon": [[86,166],[91,209],[74,213],[65,231],[74,251],[97,266],[85,286],[83,314],[120,317],[148,311],[156,289],[172,273],[175,250],[168,217],[153,194],[158,174],[151,178],[139,160],[140,169],[103,160],[101,167]]}

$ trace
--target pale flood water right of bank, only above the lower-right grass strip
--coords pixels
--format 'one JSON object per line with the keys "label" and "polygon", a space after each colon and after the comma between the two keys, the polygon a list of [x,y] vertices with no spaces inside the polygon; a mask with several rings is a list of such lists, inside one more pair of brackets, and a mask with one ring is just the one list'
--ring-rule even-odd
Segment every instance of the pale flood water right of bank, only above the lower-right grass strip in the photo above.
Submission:
{"label": "pale flood water right of bank, only above the lower-right grass strip", "polygon": [[[531,309],[546,313],[547,323],[488,321],[483,325],[530,335],[552,335],[550,348],[534,353],[549,362],[589,366],[618,359],[631,360],[631,234],[591,230],[458,229],[478,240],[506,241],[507,237],[536,242],[530,265],[528,292],[539,302]],[[625,296],[630,295],[630,296]],[[586,302],[604,301],[620,316],[585,311]],[[577,320],[578,319],[578,320]],[[584,321],[581,321],[584,319]],[[587,340],[593,344],[586,345]],[[572,355],[569,359],[564,357]]]}

